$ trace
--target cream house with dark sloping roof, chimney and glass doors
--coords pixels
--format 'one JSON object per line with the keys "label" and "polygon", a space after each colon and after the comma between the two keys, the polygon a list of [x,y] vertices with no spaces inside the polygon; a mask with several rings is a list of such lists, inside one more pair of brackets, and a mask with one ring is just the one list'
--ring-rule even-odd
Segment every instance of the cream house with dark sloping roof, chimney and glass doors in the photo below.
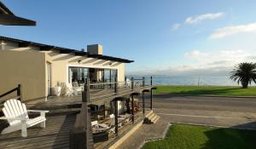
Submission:
{"label": "cream house with dark sloping roof, chimney and glass doors", "polygon": [[131,62],[104,55],[100,44],[88,45],[85,52],[0,37],[0,93],[20,84],[23,100],[47,100],[57,83],[125,81],[125,63]]}

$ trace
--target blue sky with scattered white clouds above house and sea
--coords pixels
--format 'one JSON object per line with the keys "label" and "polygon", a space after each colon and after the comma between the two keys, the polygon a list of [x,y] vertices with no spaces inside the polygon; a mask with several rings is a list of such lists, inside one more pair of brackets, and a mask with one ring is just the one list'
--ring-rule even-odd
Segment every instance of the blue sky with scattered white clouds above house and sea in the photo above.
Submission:
{"label": "blue sky with scattered white clouds above house and sea", "polygon": [[127,73],[225,75],[256,62],[255,0],[3,0],[37,26],[0,26],[0,35],[71,49],[101,43],[135,60]]}

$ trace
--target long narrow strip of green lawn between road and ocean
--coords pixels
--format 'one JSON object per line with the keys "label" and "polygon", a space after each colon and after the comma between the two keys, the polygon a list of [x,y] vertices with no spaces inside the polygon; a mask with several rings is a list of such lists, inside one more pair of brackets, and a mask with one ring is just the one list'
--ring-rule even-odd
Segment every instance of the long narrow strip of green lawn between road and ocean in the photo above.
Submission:
{"label": "long narrow strip of green lawn between road and ocean", "polygon": [[219,87],[219,86],[177,86],[159,85],[154,93],[170,93],[173,95],[256,95],[256,87],[241,89],[240,87]]}

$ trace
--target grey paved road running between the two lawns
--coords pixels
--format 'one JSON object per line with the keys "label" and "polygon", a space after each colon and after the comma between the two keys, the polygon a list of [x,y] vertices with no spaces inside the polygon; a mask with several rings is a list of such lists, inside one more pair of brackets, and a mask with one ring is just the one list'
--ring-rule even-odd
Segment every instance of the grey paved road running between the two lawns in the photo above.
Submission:
{"label": "grey paved road running between the two lawns", "polygon": [[170,123],[256,129],[256,99],[154,95],[154,112]]}

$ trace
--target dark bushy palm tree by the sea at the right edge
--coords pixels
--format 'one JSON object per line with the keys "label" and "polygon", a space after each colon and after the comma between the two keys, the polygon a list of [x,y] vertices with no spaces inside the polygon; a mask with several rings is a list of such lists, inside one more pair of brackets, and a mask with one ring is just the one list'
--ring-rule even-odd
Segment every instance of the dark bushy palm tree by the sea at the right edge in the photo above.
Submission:
{"label": "dark bushy palm tree by the sea at the right edge", "polygon": [[241,83],[242,89],[247,89],[248,84],[256,83],[256,63],[240,63],[231,72],[231,80]]}

